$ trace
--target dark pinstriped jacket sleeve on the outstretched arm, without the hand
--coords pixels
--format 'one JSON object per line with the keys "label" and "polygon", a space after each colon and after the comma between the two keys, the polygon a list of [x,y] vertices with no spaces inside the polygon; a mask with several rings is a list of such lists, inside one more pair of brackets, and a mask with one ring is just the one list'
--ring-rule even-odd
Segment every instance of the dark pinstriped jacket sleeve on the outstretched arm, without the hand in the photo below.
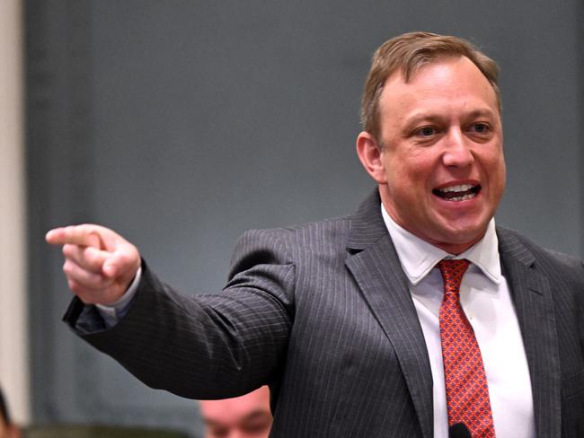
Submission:
{"label": "dark pinstriped jacket sleeve on the outstretched arm, without the hand", "polygon": [[136,296],[117,325],[105,329],[95,308],[76,298],[64,319],[146,385],[191,399],[222,399],[278,378],[294,282],[295,265],[279,233],[252,231],[236,245],[221,293],[181,295],[144,263]]}

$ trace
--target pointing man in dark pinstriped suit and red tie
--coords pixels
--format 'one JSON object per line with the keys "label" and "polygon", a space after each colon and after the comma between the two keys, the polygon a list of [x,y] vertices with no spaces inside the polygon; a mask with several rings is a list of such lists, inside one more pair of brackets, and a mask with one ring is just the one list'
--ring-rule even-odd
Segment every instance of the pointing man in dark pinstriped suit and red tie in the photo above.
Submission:
{"label": "pointing man in dark pinstriped suit and red tie", "polygon": [[245,233],[224,293],[174,293],[100,226],[49,232],[77,295],[67,322],[155,388],[270,385],[271,436],[583,436],[584,266],[495,227],[495,63],[455,37],[390,39],[362,113],[375,193]]}

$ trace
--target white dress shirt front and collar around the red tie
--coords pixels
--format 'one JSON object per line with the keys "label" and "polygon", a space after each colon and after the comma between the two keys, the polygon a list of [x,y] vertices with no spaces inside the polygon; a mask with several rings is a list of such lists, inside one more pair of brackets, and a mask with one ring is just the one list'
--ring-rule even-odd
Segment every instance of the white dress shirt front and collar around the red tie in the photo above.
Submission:
{"label": "white dress shirt front and collar around the red tie", "polygon": [[436,264],[442,258],[471,262],[460,285],[460,302],[481,348],[497,438],[535,438],[529,370],[509,285],[501,275],[494,219],[481,241],[458,256],[404,230],[381,206],[420,318],[434,381],[434,437],[448,438],[448,415],[438,312],[444,294]]}

